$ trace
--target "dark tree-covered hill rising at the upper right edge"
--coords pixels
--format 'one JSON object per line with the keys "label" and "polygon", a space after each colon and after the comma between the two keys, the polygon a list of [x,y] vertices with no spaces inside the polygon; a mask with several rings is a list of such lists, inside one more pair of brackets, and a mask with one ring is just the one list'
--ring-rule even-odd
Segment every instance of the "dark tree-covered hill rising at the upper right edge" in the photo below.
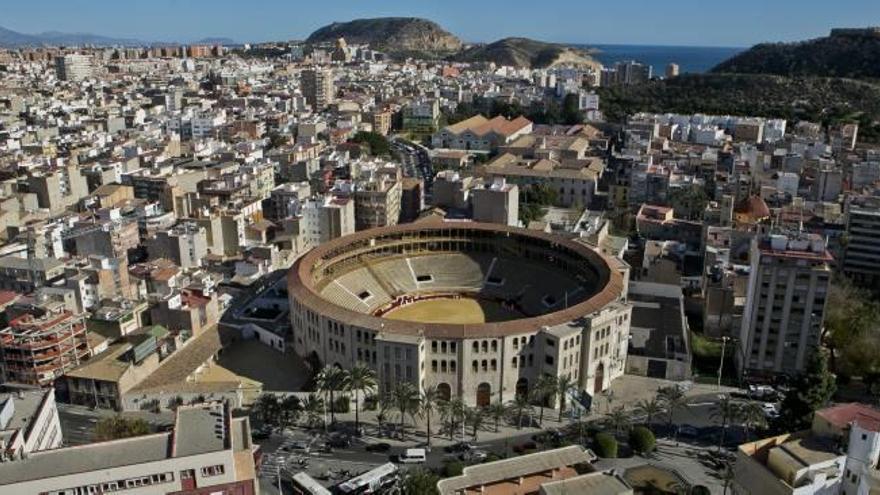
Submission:
{"label": "dark tree-covered hill rising at the upper right edge", "polygon": [[880,78],[880,30],[834,29],[824,38],[755,45],[712,72]]}

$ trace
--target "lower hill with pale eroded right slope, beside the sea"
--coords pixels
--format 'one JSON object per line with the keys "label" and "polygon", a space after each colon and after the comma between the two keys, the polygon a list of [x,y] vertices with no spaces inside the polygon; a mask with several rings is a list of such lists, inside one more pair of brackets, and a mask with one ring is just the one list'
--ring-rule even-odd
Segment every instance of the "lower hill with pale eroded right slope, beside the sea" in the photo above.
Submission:
{"label": "lower hill with pale eroded right slope, beside the sea", "polygon": [[528,38],[505,38],[487,45],[475,45],[453,58],[457,62],[487,62],[524,68],[599,65],[586,51]]}

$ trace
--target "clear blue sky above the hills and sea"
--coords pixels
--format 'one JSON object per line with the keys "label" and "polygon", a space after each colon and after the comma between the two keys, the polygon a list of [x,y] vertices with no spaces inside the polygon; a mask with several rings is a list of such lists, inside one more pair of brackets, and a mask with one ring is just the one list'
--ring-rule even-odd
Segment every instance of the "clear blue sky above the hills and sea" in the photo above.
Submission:
{"label": "clear blue sky above the hills and sea", "polygon": [[0,0],[7,29],[144,40],[293,39],[332,21],[417,16],[466,41],[748,46],[880,24],[878,0]]}

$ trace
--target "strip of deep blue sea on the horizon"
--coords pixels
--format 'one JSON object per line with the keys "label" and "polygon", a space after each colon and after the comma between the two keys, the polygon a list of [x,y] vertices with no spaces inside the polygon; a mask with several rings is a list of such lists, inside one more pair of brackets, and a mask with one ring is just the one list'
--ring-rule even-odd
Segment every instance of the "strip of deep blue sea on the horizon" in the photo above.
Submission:
{"label": "strip of deep blue sea on the horizon", "polygon": [[745,50],[745,48],[718,46],[664,46],[664,45],[575,45],[596,49],[593,58],[604,66],[615,62],[635,60],[653,67],[655,76],[666,73],[666,66],[676,63],[682,74],[708,72],[712,67]]}

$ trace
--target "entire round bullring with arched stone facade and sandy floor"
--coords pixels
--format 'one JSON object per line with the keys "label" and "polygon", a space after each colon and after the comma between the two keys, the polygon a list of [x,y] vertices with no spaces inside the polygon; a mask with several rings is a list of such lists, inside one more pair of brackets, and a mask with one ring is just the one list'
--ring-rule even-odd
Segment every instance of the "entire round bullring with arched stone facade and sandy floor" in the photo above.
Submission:
{"label": "entire round bullring with arched stone facade and sandy floor", "polygon": [[474,222],[358,232],[309,251],[288,275],[293,347],[373,367],[469,405],[509,401],[542,374],[596,394],[622,375],[627,268],[586,244]]}

